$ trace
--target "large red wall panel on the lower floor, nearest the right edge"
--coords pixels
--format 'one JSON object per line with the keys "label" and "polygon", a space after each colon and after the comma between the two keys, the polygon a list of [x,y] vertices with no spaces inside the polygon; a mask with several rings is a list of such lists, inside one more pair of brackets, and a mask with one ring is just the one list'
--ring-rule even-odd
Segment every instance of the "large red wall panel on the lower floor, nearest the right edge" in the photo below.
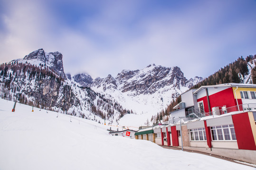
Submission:
{"label": "large red wall panel on the lower floor, nearest the right edge", "polygon": [[256,150],[248,113],[232,115],[238,149]]}

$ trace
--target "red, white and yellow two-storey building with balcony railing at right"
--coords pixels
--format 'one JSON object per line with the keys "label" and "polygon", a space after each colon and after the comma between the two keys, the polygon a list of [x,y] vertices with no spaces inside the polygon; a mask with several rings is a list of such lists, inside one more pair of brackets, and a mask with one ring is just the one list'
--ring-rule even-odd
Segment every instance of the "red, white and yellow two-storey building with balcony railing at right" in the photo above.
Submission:
{"label": "red, white and yellow two-storey building with balcony railing at right", "polygon": [[152,129],[156,144],[256,164],[256,85],[201,86],[181,100],[169,124]]}

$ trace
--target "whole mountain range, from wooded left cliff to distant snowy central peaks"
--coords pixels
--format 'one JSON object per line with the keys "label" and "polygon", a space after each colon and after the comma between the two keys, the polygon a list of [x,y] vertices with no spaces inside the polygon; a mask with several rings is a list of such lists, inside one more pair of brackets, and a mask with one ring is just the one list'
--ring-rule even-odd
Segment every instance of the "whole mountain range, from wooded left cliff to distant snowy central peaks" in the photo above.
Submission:
{"label": "whole mountain range, from wooded left cliff to distant snowy central peaks", "polygon": [[130,125],[136,126],[203,79],[187,80],[179,67],[155,64],[141,70],[123,70],[116,77],[108,75],[93,80],[85,73],[71,76],[64,72],[61,53],[43,49],[0,68],[3,98],[14,100],[19,93],[19,100],[30,105],[89,119],[98,116],[98,120],[109,122],[129,119]]}

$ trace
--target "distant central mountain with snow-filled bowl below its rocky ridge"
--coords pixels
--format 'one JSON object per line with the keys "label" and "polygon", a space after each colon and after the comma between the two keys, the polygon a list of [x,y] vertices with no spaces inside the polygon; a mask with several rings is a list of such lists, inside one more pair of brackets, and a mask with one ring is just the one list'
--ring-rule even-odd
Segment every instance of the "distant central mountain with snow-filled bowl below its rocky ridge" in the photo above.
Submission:
{"label": "distant central mountain with snow-filled bowl below its rocky ridge", "polygon": [[[123,70],[116,77],[97,77],[87,85],[95,92],[115,99],[124,108],[133,110],[140,115],[140,118],[133,118],[133,122],[143,124],[146,119],[165,109],[173,99],[202,80],[198,76],[187,80],[179,67],[167,68],[151,64],[141,70]],[[84,82],[77,83],[84,85]]]}

